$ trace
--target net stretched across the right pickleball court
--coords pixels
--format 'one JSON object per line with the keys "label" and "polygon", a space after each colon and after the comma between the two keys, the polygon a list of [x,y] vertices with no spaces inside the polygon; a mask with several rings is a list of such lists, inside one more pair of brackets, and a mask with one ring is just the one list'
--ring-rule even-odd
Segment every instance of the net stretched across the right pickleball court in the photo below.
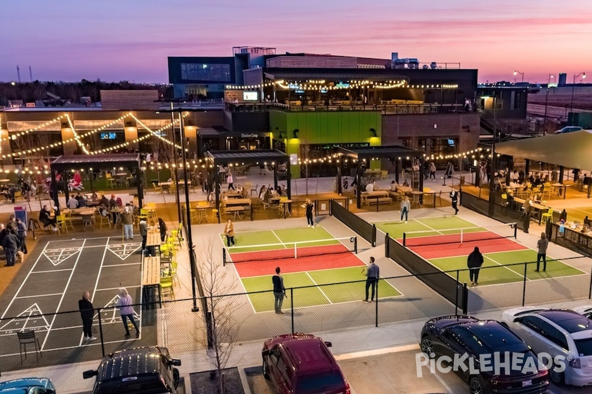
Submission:
{"label": "net stretched across the right pickleball court", "polygon": [[447,245],[490,239],[514,238],[516,223],[493,224],[485,227],[459,227],[458,229],[433,229],[403,233],[403,246]]}

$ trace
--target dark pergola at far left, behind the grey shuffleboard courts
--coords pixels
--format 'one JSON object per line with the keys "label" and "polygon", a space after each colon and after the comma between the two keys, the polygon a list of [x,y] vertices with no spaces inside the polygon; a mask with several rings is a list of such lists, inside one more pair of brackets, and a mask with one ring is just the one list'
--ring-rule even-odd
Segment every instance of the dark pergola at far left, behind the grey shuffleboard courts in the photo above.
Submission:
{"label": "dark pergola at far left, behind the grey shuffleboard courts", "polygon": [[[124,153],[124,154],[102,154],[102,155],[62,155],[55,159],[50,164],[52,173],[52,191],[53,201],[56,203],[56,207],[59,207],[57,198],[57,182],[56,182],[56,171],[63,172],[64,181],[64,193],[66,195],[66,201],[69,198],[68,191],[68,174],[71,170],[84,170],[92,172],[95,170],[107,169],[107,168],[131,168],[136,171],[136,184],[138,190],[138,204],[142,207],[142,199],[144,198],[142,181],[141,181],[141,166],[140,166],[140,154],[137,153]],[[92,171],[91,171],[92,168]],[[92,188],[92,174],[90,177],[91,191]]]}

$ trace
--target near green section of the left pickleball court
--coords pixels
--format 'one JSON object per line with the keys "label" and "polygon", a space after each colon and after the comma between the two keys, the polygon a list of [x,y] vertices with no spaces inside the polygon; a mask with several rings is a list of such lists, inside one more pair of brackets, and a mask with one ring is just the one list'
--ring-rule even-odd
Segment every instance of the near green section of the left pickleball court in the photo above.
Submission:
{"label": "near green section of the left pickleball court", "polygon": [[[282,274],[284,286],[314,286],[304,289],[294,289],[292,297],[294,308],[313,307],[316,305],[336,304],[337,302],[361,301],[364,298],[365,282],[346,283],[338,285],[325,285],[336,282],[360,281],[364,279],[362,269],[365,266],[323,269],[319,271],[295,272]],[[272,288],[272,276],[252,276],[242,278],[244,289],[247,292],[265,291]],[[287,291],[284,298],[284,310],[291,305],[290,292]],[[401,295],[387,281],[379,281],[379,298],[397,297]],[[274,310],[274,295],[271,292],[249,294],[255,312],[267,312]]]}

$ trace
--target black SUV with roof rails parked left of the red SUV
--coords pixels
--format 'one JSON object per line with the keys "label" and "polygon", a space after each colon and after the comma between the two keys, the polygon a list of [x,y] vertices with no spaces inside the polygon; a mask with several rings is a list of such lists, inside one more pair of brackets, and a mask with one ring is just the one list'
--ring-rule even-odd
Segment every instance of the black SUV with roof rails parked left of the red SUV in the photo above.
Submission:
{"label": "black SUV with roof rails parked left of the red SUV", "polygon": [[97,370],[82,376],[96,376],[92,394],[176,394],[179,370],[172,366],[179,365],[166,347],[136,347],[103,357]]}

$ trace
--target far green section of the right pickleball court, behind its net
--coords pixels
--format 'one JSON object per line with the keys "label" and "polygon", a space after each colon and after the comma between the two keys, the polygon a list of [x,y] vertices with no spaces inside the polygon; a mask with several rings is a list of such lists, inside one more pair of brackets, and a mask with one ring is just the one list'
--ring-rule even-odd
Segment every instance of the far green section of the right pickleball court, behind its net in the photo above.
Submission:
{"label": "far green section of the right pickleball court, behind its net", "polygon": [[[377,229],[381,230],[393,239],[403,238],[403,233],[407,232],[409,237],[425,237],[442,234],[458,233],[458,230],[450,229],[464,229],[465,232],[479,232],[485,231],[484,228],[478,227],[476,224],[461,219],[458,216],[450,217],[426,217],[423,219],[410,219],[407,223],[399,223],[398,220],[393,222],[376,222]],[[505,234],[509,230],[502,225],[500,230]],[[491,226],[492,231],[496,231],[497,226]],[[422,233],[413,232],[420,231]],[[411,232],[411,233],[410,233]]]}

